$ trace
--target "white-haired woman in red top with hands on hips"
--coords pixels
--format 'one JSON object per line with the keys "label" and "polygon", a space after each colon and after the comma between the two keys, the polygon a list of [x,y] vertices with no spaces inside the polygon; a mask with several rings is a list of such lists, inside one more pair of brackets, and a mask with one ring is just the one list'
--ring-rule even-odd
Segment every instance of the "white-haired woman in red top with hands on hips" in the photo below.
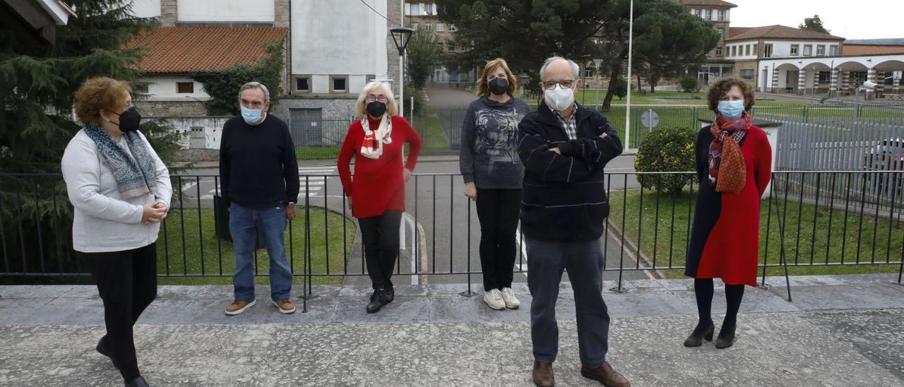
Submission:
{"label": "white-haired woman in red top with hands on hips", "polygon": [[[405,182],[418,163],[420,137],[399,116],[392,90],[374,80],[364,86],[354,106],[361,117],[348,127],[337,162],[345,196],[358,218],[364,259],[373,284],[367,313],[392,302],[392,268],[399,255],[399,226],[405,211]],[[402,149],[410,145],[402,167]],[[354,156],[354,176],[349,163]]]}

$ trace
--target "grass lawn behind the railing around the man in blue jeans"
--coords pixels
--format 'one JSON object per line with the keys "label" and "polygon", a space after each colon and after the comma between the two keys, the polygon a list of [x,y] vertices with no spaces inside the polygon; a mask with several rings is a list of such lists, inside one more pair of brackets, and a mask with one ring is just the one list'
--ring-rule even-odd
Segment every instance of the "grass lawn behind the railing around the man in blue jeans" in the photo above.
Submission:
{"label": "grass lawn behind the railing around the man in blue jeans", "polygon": [[[161,285],[229,285],[235,269],[235,251],[229,241],[220,241],[215,234],[214,214],[211,209],[174,210],[165,220],[165,229],[160,229],[157,240],[157,272],[173,276],[201,275],[224,277],[161,277]],[[304,209],[298,209],[298,216],[291,222],[286,232],[286,250],[292,271],[304,273],[305,260],[305,219]],[[354,242],[355,223],[345,221],[341,213],[325,211],[321,207],[310,207],[311,218],[311,263],[313,273],[342,273],[345,261],[351,255]],[[344,222],[345,221],[345,222]],[[199,235],[199,222],[201,234]],[[184,224],[184,227],[183,227]],[[343,227],[345,234],[343,235]],[[184,235],[183,235],[184,230]],[[291,230],[291,233],[289,233]],[[291,239],[291,244],[290,240]],[[290,248],[291,246],[291,248]],[[203,253],[202,253],[203,249]],[[327,250],[329,255],[327,256]],[[167,257],[168,251],[168,259]],[[221,254],[221,258],[220,257]],[[203,259],[202,259],[203,256]],[[269,269],[267,250],[258,250],[255,268],[266,275]],[[258,284],[268,284],[265,277],[255,278]],[[315,277],[315,284],[339,284],[341,277]],[[302,283],[301,277],[295,283]]]}

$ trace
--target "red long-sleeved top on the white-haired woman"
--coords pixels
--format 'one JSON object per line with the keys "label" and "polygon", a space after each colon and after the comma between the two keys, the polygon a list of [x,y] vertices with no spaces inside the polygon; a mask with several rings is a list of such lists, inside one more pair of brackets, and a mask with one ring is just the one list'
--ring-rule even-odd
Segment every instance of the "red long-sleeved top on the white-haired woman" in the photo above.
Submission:
{"label": "red long-sleeved top on the white-haired woman", "polygon": [[[370,126],[380,126],[379,119],[368,117]],[[378,159],[361,156],[364,128],[361,120],[348,127],[337,167],[342,179],[343,191],[352,197],[352,215],[355,218],[381,216],[386,210],[405,211],[405,182],[402,178],[401,154],[405,143],[410,144],[408,160],[404,167],[414,171],[420,153],[420,137],[408,120],[392,116],[392,143],[383,144],[383,154]],[[354,156],[354,176],[349,163]]]}

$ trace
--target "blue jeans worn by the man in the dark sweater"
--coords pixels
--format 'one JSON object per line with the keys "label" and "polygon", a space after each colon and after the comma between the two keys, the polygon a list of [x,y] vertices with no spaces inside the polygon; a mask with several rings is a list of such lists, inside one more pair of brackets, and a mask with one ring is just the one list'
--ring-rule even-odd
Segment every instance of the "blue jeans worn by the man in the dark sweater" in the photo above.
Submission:
{"label": "blue jeans worn by the man in the dark sweater", "polygon": [[229,231],[235,249],[232,287],[235,299],[254,299],[254,248],[260,234],[270,256],[270,297],[286,299],[292,291],[292,269],[286,257],[286,210],[283,206],[252,209],[231,203]]}

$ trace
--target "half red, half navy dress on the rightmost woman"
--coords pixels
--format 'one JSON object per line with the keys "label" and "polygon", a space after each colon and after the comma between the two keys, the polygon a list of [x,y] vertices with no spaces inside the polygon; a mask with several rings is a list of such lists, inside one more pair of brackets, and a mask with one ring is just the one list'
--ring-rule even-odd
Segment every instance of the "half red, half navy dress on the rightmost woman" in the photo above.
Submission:
{"label": "half red, half navy dress on the rightmost woman", "polygon": [[712,139],[710,127],[704,127],[695,144],[700,191],[684,275],[756,286],[759,200],[771,177],[772,147],[763,129],[750,127],[739,144],[747,165],[744,188],[739,193],[720,193],[709,179]]}

